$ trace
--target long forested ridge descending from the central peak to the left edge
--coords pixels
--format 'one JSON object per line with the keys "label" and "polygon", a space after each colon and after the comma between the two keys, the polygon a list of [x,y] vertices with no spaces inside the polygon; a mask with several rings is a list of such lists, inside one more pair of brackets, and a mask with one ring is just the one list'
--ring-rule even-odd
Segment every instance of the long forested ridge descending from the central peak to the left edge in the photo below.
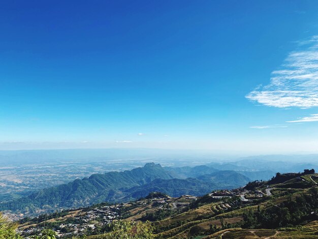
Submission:
{"label": "long forested ridge descending from the central peak to the left edge", "polygon": [[148,163],[130,171],[92,174],[89,178],[46,188],[29,196],[0,204],[0,210],[34,212],[39,208],[70,208],[120,200],[121,190],[150,183],[156,178],[173,178],[161,165]]}

